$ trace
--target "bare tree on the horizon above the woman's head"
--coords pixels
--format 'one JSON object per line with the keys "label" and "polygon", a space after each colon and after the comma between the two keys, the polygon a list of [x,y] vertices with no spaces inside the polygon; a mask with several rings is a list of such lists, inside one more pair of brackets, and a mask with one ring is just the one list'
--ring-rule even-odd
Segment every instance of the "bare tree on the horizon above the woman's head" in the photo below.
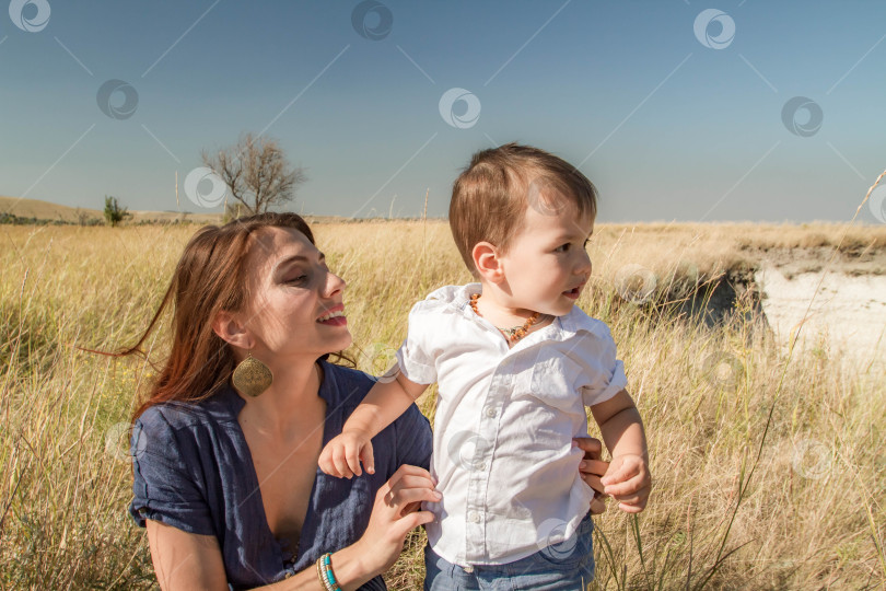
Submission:
{"label": "bare tree on the horizon above the woman's head", "polygon": [[235,146],[214,154],[203,150],[201,155],[250,215],[291,201],[296,187],[307,181],[304,169],[292,169],[280,143],[270,138],[246,134]]}

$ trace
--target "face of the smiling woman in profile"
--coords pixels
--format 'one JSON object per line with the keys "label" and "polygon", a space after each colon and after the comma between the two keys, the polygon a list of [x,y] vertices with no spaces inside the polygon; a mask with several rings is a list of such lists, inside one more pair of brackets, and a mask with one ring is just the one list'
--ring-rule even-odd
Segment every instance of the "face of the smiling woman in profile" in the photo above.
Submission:
{"label": "face of the smiling woman in profile", "polygon": [[263,229],[253,235],[245,264],[250,297],[242,320],[256,349],[313,361],[351,345],[345,281],[304,234]]}

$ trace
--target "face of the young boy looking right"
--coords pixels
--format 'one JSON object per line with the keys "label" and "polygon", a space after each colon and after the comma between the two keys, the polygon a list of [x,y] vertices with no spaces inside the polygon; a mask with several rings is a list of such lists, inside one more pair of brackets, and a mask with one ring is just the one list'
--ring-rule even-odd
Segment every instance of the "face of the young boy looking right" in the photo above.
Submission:
{"label": "face of the young boy looking right", "polygon": [[562,316],[591,276],[585,245],[594,231],[591,216],[580,218],[573,204],[527,207],[523,230],[499,256],[514,308]]}

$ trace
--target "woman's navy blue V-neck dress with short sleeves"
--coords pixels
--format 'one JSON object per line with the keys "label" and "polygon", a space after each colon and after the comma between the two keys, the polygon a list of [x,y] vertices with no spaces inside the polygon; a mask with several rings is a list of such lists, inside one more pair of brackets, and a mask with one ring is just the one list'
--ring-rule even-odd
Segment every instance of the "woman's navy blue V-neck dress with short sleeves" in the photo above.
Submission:
{"label": "woman's navy blue V-neck dress with short sleeves", "polygon": [[[365,373],[320,361],[326,401],[324,445],[373,385]],[[327,476],[317,468],[298,548],[268,526],[253,459],[237,415],[246,402],[229,385],[197,403],[145,410],[130,440],[135,498],[129,514],[179,530],[214,535],[229,588],[250,589],[294,575],[326,552],[357,542],[369,524],[375,493],[403,464],[428,468],[431,427],[412,405],[373,440],[375,474]],[[385,589],[381,577],[361,587]]]}

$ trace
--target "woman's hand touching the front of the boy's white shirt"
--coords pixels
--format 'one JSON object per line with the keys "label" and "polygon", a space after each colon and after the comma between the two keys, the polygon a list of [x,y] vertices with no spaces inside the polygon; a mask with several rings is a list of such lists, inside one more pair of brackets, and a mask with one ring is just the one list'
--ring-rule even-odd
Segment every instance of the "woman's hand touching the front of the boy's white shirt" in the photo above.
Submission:
{"label": "woman's hand touching the front of the boy's white shirt", "polygon": [[403,465],[378,489],[366,531],[351,546],[359,551],[358,556],[371,572],[390,568],[403,552],[406,534],[434,520],[432,512],[419,510],[421,501],[438,502],[443,498],[434,486],[427,470]]}

